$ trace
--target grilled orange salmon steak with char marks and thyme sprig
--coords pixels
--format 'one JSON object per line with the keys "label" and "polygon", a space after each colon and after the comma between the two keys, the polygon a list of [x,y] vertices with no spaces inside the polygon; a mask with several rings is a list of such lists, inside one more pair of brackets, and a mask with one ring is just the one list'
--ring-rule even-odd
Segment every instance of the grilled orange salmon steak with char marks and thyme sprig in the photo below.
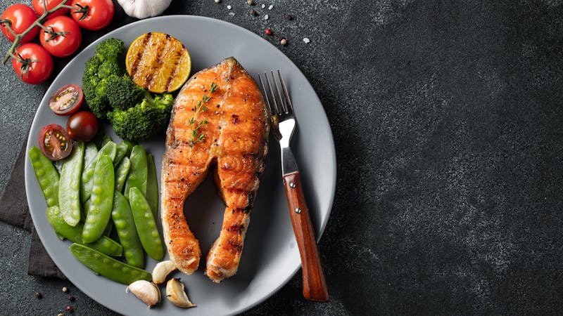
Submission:
{"label": "grilled orange salmon steak with char marks and thyme sprig", "polygon": [[184,201],[214,164],[227,207],[205,274],[217,283],[236,274],[265,166],[267,113],[260,88],[232,57],[194,74],[175,100],[166,133],[161,217],[170,260],[187,275],[198,268],[201,249],[186,223]]}

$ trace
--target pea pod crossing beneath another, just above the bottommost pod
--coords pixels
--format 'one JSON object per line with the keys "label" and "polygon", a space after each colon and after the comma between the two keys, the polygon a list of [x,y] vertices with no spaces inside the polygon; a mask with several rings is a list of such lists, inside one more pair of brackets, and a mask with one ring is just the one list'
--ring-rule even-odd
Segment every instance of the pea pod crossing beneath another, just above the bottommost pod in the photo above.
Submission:
{"label": "pea pod crossing beneath another, just above the bottommost pod", "polygon": [[[84,242],[82,242],[82,228],[84,226],[81,223],[78,223],[76,226],[68,225],[65,220],[63,220],[58,206],[51,206],[47,209],[47,220],[49,220],[49,223],[51,223],[57,235],[65,237],[71,242],[84,244]],[[123,252],[123,248],[120,244],[105,236],[102,236],[100,239],[96,240],[96,242],[87,244],[87,246],[108,256],[121,256]]]}

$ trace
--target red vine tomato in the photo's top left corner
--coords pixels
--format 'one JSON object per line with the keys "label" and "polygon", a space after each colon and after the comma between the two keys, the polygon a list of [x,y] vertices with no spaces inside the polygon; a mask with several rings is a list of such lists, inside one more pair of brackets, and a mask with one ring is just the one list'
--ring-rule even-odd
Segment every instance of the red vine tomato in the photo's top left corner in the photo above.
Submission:
{"label": "red vine tomato in the photo's top left corner", "polygon": [[[0,18],[2,19],[2,33],[7,39],[14,41],[15,37],[6,26],[9,24],[15,34],[22,34],[27,27],[30,27],[37,20],[37,15],[31,7],[25,6],[25,4],[13,4],[8,6]],[[39,27],[34,27],[29,33],[25,34],[20,43],[31,41],[35,38],[37,32],[39,32]]]}

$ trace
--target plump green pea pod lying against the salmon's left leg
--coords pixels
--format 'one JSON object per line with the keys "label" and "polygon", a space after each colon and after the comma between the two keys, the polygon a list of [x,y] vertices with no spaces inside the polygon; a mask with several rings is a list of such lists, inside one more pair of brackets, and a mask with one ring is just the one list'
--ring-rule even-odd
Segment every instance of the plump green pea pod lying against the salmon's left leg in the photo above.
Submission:
{"label": "plump green pea pod lying against the salmon's left leg", "polygon": [[132,187],[129,191],[129,204],[131,204],[135,228],[137,228],[143,248],[148,256],[159,261],[164,256],[163,243],[156,228],[151,206],[148,206],[148,202],[138,187]]}

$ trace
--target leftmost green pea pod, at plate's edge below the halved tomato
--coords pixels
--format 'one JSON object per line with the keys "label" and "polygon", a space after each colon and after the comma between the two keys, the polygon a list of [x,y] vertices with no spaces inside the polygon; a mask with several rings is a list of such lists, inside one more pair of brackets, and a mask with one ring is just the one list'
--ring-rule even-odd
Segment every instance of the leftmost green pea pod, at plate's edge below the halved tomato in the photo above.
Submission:
{"label": "leftmost green pea pod, at plate's edge below the halved tomato", "polygon": [[33,172],[39,182],[47,206],[58,205],[58,173],[51,160],[42,154],[38,147],[31,147],[29,152]]}

